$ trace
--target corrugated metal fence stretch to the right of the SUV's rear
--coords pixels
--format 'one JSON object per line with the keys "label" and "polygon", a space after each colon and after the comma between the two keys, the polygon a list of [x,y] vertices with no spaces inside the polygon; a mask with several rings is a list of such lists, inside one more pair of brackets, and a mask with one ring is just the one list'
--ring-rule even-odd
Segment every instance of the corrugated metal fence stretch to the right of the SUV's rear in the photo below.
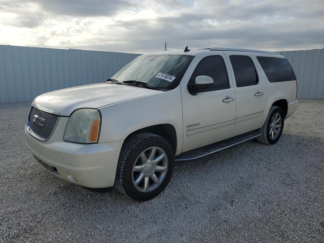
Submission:
{"label": "corrugated metal fence stretch to the right of the SUV's rear", "polygon": [[298,97],[324,99],[324,50],[279,52],[292,65],[298,80]]}

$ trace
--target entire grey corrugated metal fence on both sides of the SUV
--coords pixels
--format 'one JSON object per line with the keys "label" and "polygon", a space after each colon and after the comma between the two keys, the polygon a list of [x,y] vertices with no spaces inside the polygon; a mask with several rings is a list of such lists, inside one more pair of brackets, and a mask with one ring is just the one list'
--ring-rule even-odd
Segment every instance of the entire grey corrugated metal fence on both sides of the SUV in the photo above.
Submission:
{"label": "entire grey corrugated metal fence on both sides of the SUV", "polygon": [[[280,52],[293,66],[299,98],[324,99],[324,50]],[[103,82],[140,54],[0,45],[0,103]]]}

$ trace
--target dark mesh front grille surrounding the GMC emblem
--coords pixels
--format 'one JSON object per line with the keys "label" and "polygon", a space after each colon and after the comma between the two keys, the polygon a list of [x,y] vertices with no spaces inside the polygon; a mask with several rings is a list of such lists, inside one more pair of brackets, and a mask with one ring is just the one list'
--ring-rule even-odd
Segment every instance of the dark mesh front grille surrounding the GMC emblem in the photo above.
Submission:
{"label": "dark mesh front grille surrounding the GMC emblem", "polygon": [[[37,115],[39,118],[44,119],[43,126],[40,126],[33,121],[34,116]],[[35,133],[37,136],[47,140],[52,134],[53,129],[55,128],[56,122],[58,121],[59,116],[54,115],[42,110],[39,110],[35,107],[31,107],[29,112],[29,128],[31,132]]]}

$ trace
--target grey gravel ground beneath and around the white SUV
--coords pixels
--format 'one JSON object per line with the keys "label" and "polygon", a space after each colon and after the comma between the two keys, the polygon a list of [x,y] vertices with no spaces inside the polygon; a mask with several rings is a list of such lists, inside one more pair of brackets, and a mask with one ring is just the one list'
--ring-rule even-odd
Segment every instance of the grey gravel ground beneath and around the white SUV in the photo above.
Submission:
{"label": "grey gravel ground beneath and around the white SUV", "polygon": [[144,203],[45,171],[24,144],[29,104],[0,104],[0,242],[324,242],[324,100],[300,100],[275,145],[176,164]]}

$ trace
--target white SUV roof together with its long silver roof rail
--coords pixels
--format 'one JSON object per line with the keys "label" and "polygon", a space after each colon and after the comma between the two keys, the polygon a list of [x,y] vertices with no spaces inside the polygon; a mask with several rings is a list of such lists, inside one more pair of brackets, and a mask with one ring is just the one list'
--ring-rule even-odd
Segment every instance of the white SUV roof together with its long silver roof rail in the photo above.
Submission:
{"label": "white SUV roof together with its long silver roof rail", "polygon": [[162,52],[152,52],[152,53],[148,53],[148,54],[144,54],[144,55],[166,55],[166,54],[175,55],[175,54],[181,54],[181,55],[195,56],[200,52],[209,52],[209,51],[258,52],[258,53],[280,55],[278,52],[269,52],[269,51],[251,50],[251,49],[225,48],[225,47],[213,47],[213,48],[206,48],[206,49],[190,50],[188,52],[184,52],[183,50],[162,51]]}

